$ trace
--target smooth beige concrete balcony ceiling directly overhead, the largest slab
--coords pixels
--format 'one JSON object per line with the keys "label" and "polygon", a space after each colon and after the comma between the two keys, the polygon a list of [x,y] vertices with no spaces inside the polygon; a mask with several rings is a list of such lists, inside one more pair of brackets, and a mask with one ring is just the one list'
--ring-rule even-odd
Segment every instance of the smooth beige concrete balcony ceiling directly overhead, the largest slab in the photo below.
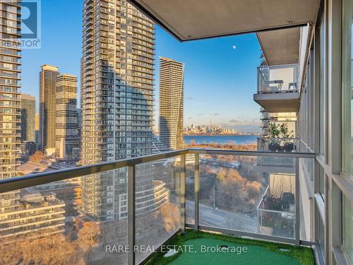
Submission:
{"label": "smooth beige concrete balcony ceiling directly overhead, the largest slab", "polygon": [[128,1],[180,41],[304,26],[316,22],[320,4],[320,0]]}

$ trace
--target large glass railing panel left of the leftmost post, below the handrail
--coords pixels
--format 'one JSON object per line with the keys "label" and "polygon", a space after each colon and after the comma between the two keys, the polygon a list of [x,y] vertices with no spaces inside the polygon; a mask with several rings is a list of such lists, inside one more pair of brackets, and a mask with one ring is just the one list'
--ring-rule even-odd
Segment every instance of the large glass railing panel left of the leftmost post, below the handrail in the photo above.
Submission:
{"label": "large glass railing panel left of the leftmost post, below the handrail", "polygon": [[127,264],[114,249],[127,245],[126,180],[121,168],[0,194],[0,264]]}

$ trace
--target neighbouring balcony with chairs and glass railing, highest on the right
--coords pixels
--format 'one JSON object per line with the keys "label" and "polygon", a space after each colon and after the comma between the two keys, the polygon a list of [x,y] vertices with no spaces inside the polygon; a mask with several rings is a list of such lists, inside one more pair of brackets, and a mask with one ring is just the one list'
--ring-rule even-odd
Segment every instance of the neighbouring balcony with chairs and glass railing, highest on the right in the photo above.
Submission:
{"label": "neighbouring balcony with chairs and glass railing, highest on the right", "polygon": [[268,112],[297,112],[298,64],[258,67],[258,93],[253,100]]}

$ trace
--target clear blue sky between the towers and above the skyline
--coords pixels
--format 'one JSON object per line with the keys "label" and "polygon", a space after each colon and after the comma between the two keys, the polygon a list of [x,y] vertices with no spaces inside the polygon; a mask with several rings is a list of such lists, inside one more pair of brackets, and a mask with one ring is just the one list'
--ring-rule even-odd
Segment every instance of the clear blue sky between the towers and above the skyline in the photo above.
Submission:
{"label": "clear blue sky between the towers and above the skyline", "polygon": [[[83,0],[42,1],[42,49],[23,50],[23,93],[38,96],[42,64],[79,76],[82,7]],[[181,43],[156,27],[156,59],[158,56],[185,63],[184,125],[209,124],[212,119],[213,124],[239,131],[258,131],[259,106],[253,102],[260,62],[256,35]]]}

